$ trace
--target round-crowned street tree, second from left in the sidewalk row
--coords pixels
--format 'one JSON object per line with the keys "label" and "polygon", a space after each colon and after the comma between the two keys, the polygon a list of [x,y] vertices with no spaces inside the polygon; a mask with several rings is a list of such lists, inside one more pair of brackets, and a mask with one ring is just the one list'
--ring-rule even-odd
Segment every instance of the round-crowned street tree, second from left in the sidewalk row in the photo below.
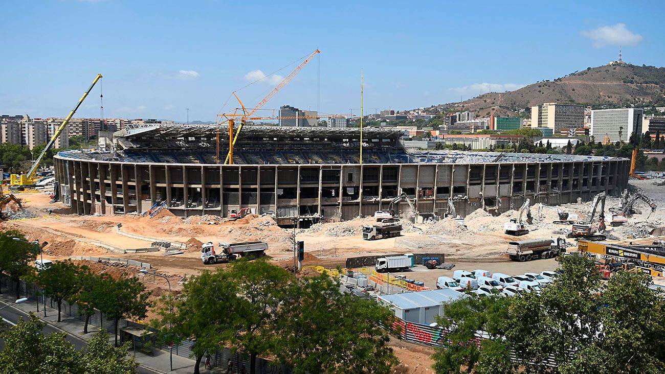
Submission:
{"label": "round-crowned street tree, second from left in the sidewalk row", "polygon": [[53,262],[53,266],[37,275],[37,286],[58,304],[58,322],[61,322],[63,300],[73,300],[80,289],[80,274],[80,266],[65,260]]}

